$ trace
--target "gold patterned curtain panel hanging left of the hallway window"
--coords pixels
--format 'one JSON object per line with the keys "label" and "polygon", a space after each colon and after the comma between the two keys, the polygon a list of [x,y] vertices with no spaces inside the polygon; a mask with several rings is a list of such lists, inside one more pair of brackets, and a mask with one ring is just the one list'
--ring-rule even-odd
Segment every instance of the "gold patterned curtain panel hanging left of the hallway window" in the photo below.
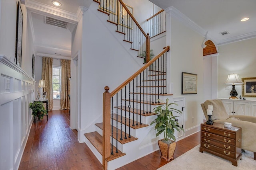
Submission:
{"label": "gold patterned curtain panel hanging left of the hallway window", "polygon": [[53,96],[52,96],[52,58],[43,57],[42,59],[42,80],[45,80],[46,88],[44,92],[47,93],[47,98],[49,100],[49,110],[53,107]]}

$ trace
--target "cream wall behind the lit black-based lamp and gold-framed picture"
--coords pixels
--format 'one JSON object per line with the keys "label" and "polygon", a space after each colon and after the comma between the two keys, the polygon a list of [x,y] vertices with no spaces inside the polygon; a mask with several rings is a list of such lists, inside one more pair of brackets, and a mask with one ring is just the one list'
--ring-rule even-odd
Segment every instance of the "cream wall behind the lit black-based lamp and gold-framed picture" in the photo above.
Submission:
{"label": "cream wall behind the lit black-based lamp and gold-framed picture", "polygon": [[[218,46],[218,98],[229,98],[232,85],[225,85],[228,74],[237,73],[240,78],[256,77],[256,38]],[[225,90],[228,87],[229,90]],[[236,85],[238,98],[242,86]],[[249,99],[249,97],[245,97]]]}

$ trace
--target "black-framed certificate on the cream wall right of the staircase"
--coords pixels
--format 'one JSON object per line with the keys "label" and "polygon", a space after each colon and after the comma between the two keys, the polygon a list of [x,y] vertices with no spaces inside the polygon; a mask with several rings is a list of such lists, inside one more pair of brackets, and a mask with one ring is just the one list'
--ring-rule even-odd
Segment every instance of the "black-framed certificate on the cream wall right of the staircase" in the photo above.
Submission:
{"label": "black-framed certificate on the cream wall right of the staircase", "polygon": [[197,74],[182,72],[181,94],[197,94]]}

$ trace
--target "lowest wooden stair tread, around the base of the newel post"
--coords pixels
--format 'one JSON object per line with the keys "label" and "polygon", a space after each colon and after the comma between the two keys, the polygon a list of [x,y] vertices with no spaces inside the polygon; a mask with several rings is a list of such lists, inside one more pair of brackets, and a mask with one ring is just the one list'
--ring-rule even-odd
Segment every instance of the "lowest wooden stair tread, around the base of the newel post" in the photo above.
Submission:
{"label": "lowest wooden stair tread, around the base of the newel post", "polygon": [[[85,133],[84,136],[92,143],[92,145],[100,152],[102,155],[102,141],[103,137],[98,132],[90,132]],[[111,145],[111,144],[110,144]],[[116,147],[113,146],[113,150],[116,150]],[[118,150],[118,153],[113,152],[113,155],[110,155],[108,158],[106,158],[107,161],[114,160],[116,158],[119,158],[121,156],[124,156],[125,153],[122,153],[120,150]]]}

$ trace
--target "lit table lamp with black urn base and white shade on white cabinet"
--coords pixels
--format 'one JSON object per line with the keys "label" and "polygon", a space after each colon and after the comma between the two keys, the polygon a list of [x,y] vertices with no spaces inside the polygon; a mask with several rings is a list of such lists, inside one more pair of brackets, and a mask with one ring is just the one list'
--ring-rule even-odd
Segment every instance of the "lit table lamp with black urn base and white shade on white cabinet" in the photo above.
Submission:
{"label": "lit table lamp with black urn base and white shade on white cabinet", "polygon": [[228,74],[228,79],[226,80],[226,82],[224,84],[232,84],[232,90],[230,92],[230,98],[231,99],[238,99],[237,96],[237,92],[235,89],[235,85],[236,84],[244,84],[244,82],[242,82],[239,78],[238,74]]}

